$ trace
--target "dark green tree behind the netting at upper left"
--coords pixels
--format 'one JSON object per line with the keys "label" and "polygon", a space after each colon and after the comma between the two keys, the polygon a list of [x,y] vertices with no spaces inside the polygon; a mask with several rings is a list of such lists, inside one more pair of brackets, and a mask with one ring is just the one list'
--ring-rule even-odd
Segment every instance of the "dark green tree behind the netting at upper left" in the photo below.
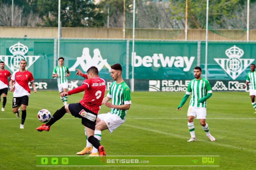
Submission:
{"label": "dark green tree behind the netting at upper left", "polygon": [[[98,18],[98,5],[93,0],[61,0],[60,20],[62,27],[103,26]],[[40,16],[44,18],[43,26],[58,25],[58,1],[38,0]]]}

